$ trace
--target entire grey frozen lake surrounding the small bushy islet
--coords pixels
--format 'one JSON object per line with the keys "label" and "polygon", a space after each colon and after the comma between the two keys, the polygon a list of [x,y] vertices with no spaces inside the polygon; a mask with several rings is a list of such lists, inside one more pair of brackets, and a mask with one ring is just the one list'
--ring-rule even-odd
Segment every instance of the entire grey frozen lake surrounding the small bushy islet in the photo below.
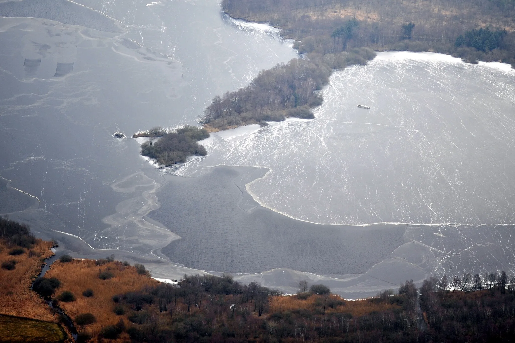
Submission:
{"label": "entire grey frozen lake surrounding the small bushy islet", "polygon": [[216,1],[79,3],[0,1],[0,213],[59,251],[346,297],[515,269],[507,66],[379,53],[333,74],[316,119],[213,134],[162,171],[112,134],[194,124],[296,52]]}

